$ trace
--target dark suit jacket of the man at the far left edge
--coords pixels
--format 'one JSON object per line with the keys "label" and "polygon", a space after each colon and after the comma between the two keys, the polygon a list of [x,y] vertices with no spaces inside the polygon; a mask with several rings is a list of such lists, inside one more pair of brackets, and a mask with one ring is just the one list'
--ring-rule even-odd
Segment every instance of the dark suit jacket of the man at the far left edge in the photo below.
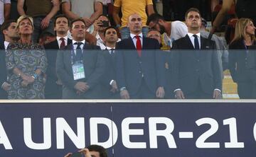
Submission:
{"label": "dark suit jacket of the man at the far left edge", "polygon": [[6,52],[4,50],[4,44],[0,45],[0,99],[7,99],[7,93],[1,88],[2,84],[6,82]]}

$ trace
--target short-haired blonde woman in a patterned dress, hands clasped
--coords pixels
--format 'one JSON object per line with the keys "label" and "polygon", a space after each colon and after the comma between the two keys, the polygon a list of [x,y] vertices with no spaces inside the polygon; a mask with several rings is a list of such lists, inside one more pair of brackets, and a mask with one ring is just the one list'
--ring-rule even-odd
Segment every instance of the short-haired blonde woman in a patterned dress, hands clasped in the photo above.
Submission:
{"label": "short-haired blonde woman in a patterned dress, hands clasped", "polygon": [[33,18],[21,16],[17,20],[21,39],[9,45],[6,52],[6,66],[9,71],[11,89],[9,99],[44,98],[43,73],[47,59],[43,47],[32,42]]}

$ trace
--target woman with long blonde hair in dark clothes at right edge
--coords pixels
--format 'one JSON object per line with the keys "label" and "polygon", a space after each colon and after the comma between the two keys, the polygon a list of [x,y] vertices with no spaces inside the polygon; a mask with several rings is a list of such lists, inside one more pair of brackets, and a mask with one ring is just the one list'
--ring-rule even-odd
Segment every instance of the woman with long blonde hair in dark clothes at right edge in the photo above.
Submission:
{"label": "woman with long blonde hair in dark clothes at right edge", "polygon": [[248,49],[255,45],[255,26],[250,18],[240,18],[235,25],[235,37],[229,46],[229,69],[238,83],[240,98],[253,98],[253,86],[248,69]]}

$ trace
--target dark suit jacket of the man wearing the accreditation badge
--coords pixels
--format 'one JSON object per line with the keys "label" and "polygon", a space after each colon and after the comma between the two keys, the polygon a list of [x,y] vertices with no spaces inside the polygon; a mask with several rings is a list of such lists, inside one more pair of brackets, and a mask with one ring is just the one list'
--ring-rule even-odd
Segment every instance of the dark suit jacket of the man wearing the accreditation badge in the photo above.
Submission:
{"label": "dark suit jacket of the man wearing the accreditation badge", "polygon": [[[73,45],[67,45],[57,54],[56,71],[63,82],[63,98],[100,98],[100,79],[105,72],[105,60],[100,47],[85,44],[82,61],[85,69],[85,79],[74,80],[71,65],[71,50]],[[74,89],[78,81],[86,82],[90,89],[82,95],[77,95]]]}

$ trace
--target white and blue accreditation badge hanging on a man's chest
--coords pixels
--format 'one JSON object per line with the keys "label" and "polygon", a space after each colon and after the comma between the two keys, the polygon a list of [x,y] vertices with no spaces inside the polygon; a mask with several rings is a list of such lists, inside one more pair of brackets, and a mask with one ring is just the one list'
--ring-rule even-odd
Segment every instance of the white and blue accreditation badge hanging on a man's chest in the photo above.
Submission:
{"label": "white and blue accreditation badge hanging on a man's chest", "polygon": [[85,69],[82,61],[75,62],[72,65],[74,80],[85,79]]}

